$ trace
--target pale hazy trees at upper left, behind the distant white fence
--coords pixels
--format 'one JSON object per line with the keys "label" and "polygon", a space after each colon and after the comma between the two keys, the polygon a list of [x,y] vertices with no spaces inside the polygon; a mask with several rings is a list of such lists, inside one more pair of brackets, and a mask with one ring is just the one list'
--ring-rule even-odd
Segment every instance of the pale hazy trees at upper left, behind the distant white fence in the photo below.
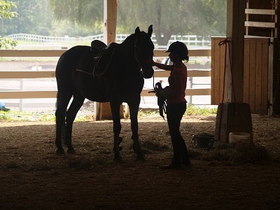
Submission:
{"label": "pale hazy trees at upper left, behind the distant white fence", "polygon": [[[17,18],[3,20],[3,34],[37,34],[44,36],[89,36],[92,29],[87,30],[69,21],[55,21],[48,0],[13,0],[17,8]],[[99,31],[100,33],[100,31]]]}

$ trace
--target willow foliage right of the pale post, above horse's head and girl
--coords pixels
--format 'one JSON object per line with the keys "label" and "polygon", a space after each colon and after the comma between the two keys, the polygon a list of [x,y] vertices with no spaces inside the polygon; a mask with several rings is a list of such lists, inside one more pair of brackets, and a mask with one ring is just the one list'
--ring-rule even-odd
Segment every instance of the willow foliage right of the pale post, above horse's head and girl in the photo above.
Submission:
{"label": "willow foliage right of the pale post, above horse's head and girl", "polygon": [[159,45],[167,45],[172,34],[221,36],[225,34],[226,1],[121,0],[118,24],[125,26],[124,31],[153,24]]}

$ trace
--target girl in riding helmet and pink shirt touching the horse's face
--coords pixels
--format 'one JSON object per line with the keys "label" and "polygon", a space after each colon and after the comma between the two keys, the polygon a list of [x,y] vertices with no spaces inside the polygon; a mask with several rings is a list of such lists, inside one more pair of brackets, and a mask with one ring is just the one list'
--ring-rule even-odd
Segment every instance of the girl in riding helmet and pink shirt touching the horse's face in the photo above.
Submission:
{"label": "girl in riding helmet and pink shirt touching the horse's face", "polygon": [[186,111],[185,90],[188,75],[187,67],[183,64],[183,61],[188,62],[188,48],[184,43],[176,41],[165,52],[169,52],[169,57],[173,65],[160,64],[154,62],[153,59],[148,61],[153,66],[171,71],[168,78],[169,86],[162,89],[157,94],[157,97],[167,99],[167,123],[172,139],[174,155],[172,162],[161,168],[181,169],[184,166],[190,167],[187,146],[180,132],[181,119]]}

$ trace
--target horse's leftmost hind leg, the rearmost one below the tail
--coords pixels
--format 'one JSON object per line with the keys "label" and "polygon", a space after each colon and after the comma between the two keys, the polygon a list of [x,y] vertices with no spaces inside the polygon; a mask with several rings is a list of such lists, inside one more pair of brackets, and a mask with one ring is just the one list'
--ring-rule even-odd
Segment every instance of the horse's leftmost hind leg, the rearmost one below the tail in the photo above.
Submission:
{"label": "horse's leftmost hind leg, the rearmost one below the tail", "polygon": [[62,136],[64,137],[65,128],[65,113],[68,103],[71,99],[72,94],[66,94],[63,92],[57,92],[57,110],[55,111],[55,122],[56,122],[56,137],[55,145],[57,146],[57,154],[63,154],[64,149],[62,147]]}

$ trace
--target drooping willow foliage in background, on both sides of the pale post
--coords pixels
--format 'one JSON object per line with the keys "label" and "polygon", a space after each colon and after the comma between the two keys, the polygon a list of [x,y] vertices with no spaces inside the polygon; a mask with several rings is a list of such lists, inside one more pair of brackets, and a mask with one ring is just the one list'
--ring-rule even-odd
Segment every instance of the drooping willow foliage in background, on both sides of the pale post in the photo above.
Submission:
{"label": "drooping willow foliage in background, on both sides of the pale post", "polygon": [[[102,29],[101,0],[49,0],[57,20]],[[225,34],[225,0],[119,0],[118,33],[153,25],[158,45],[167,45],[172,34],[222,36]]]}

